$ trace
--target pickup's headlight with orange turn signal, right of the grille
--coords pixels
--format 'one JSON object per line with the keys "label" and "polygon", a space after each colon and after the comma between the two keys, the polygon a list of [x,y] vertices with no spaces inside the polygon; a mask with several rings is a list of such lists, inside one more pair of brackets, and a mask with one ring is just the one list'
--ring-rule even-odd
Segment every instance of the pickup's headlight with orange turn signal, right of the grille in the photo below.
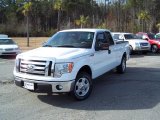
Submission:
{"label": "pickup's headlight with orange turn signal, right of the grille", "polygon": [[55,64],[54,77],[61,77],[62,74],[71,73],[73,63],[57,63]]}

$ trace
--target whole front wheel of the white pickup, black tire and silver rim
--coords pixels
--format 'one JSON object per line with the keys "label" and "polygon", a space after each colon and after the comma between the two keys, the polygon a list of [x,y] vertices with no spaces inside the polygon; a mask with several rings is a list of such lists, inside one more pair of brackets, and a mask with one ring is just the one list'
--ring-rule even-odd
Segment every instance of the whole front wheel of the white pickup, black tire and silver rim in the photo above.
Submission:
{"label": "whole front wheel of the white pickup, black tire and silver rim", "polygon": [[89,97],[92,91],[92,79],[86,72],[81,72],[77,75],[72,95],[77,100],[85,100]]}

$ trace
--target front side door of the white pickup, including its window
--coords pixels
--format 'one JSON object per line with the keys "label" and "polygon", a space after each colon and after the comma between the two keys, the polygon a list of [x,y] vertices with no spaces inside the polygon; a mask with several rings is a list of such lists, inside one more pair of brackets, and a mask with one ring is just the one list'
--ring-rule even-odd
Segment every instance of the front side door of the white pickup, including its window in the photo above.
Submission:
{"label": "front side door of the white pickup, including its window", "polygon": [[[108,32],[109,33],[109,32]],[[110,34],[110,33],[109,33]],[[110,50],[99,50],[98,46],[101,43],[108,43],[111,45]],[[113,44],[113,45],[112,45]],[[105,72],[113,69],[116,62],[114,53],[114,42],[110,43],[106,32],[100,32],[96,35],[95,54],[93,56],[93,78],[104,74]]]}

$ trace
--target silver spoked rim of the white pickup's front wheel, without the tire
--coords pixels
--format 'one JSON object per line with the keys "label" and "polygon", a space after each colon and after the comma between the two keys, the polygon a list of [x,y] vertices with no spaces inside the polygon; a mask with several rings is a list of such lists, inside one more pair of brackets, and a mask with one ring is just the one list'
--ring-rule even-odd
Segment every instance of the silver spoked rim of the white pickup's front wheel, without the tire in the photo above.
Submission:
{"label": "silver spoked rim of the white pickup's front wheel, without the tire", "polygon": [[78,96],[85,96],[89,91],[89,81],[87,78],[79,78],[75,84],[75,92]]}

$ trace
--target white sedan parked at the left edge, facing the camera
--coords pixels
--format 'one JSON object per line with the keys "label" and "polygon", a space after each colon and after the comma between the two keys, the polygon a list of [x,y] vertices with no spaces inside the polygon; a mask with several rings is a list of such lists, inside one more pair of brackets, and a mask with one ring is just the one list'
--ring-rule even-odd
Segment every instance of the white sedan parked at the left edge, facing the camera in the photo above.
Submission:
{"label": "white sedan parked at the left edge, facing the camera", "polygon": [[18,45],[7,35],[0,34],[0,56],[17,55],[20,53]]}

